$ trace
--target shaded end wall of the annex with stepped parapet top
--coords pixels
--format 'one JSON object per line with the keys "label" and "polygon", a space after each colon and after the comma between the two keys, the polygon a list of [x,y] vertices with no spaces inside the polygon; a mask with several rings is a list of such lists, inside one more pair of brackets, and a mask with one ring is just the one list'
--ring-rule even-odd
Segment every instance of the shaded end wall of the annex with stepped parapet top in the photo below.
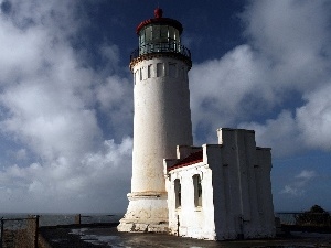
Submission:
{"label": "shaded end wall of the annex with stepped parapet top", "polygon": [[[223,209],[227,213],[226,225],[222,219],[216,220],[217,238],[274,237],[270,149],[256,148],[252,130],[218,129],[217,134],[222,144],[222,163],[212,163],[215,165],[211,168],[218,166],[218,174],[223,177],[226,203]],[[215,195],[217,205],[218,198],[222,196]],[[215,216],[224,214],[222,207],[215,209]]]}

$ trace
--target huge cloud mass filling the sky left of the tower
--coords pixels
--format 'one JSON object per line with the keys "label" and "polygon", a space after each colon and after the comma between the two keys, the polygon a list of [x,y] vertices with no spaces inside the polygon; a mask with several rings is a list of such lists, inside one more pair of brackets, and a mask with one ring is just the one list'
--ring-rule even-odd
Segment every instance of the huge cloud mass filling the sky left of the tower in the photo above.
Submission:
{"label": "huge cloud mass filling the sky left of the tower", "polygon": [[114,75],[116,45],[99,50],[108,74],[82,60],[78,3],[0,2],[1,211],[116,212],[126,202],[131,138],[114,140],[103,125],[130,126],[131,100],[121,97],[131,89]]}

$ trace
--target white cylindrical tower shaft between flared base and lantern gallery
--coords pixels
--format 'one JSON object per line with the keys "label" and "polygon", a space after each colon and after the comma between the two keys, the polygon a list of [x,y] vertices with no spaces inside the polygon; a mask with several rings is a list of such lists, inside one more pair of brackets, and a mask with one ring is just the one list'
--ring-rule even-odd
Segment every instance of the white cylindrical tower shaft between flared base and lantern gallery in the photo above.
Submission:
{"label": "white cylindrical tower shaft between flared base and lantern gallery", "polygon": [[[164,66],[164,76],[157,75],[158,64]],[[174,75],[169,65],[175,65]],[[134,67],[139,75],[134,89],[131,192],[164,192],[163,158],[174,158],[178,144],[193,142],[188,71],[185,63],[170,57],[141,61]]]}

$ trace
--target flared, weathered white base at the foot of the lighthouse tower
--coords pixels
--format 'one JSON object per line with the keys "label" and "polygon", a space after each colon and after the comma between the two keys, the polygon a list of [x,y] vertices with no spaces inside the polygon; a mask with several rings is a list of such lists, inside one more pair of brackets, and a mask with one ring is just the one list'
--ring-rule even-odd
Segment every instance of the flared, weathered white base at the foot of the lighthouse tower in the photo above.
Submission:
{"label": "flared, weathered white base at the foot of the lighthouse tower", "polygon": [[126,215],[118,231],[168,233],[167,193],[130,193]]}

